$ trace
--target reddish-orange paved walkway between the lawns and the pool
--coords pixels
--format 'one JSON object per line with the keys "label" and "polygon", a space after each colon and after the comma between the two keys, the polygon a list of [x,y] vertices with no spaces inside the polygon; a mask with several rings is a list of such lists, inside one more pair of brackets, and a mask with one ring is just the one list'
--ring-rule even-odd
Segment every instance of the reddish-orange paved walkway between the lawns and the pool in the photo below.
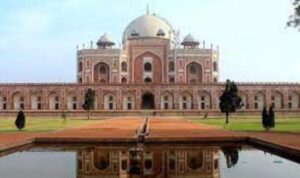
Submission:
{"label": "reddish-orange paved walkway between the lawns and the pool", "polygon": [[[50,133],[1,133],[0,151],[26,144],[35,140],[48,142],[132,142],[136,141],[137,133],[144,120],[107,119],[95,124],[66,129]],[[279,132],[232,132],[220,130],[213,126],[195,124],[183,119],[155,118],[148,122],[146,142],[176,142],[199,140],[232,140],[251,137],[260,141],[288,147],[300,152],[300,133]]]}

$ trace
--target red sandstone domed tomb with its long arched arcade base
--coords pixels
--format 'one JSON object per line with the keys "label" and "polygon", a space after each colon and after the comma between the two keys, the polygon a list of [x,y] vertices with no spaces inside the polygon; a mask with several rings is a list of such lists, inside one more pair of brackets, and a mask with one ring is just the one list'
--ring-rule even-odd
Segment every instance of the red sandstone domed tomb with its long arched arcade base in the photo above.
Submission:
{"label": "red sandstone domed tomb with its long arched arcade base", "polygon": [[[87,89],[96,91],[92,116],[217,115],[224,83],[219,82],[219,50],[191,34],[178,33],[163,18],[146,13],[126,27],[122,46],[104,34],[77,50],[76,83],[0,84],[0,116],[23,109],[31,116],[83,116]],[[300,84],[240,83],[244,106],[238,114],[300,113]]]}

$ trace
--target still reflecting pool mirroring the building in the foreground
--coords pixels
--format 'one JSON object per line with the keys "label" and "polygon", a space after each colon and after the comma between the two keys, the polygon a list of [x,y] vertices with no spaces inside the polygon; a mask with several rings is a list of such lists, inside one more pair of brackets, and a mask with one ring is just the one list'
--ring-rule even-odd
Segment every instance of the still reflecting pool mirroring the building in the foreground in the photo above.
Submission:
{"label": "still reflecting pool mirroring the building in the foreground", "polygon": [[38,145],[0,158],[0,178],[299,178],[300,164],[250,146]]}

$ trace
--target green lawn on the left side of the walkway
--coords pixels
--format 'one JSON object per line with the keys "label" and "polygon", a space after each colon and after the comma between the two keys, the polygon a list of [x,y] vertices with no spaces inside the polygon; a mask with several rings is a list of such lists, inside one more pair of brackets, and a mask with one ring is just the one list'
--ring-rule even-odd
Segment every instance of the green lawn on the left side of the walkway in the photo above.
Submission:
{"label": "green lawn on the left side of the walkway", "polygon": [[[99,122],[99,120],[86,120],[86,119],[54,119],[54,118],[27,118],[25,132],[48,132],[61,130],[71,127],[78,127],[81,125],[92,124]],[[15,126],[15,119],[0,119],[0,133],[4,132],[17,132]]]}

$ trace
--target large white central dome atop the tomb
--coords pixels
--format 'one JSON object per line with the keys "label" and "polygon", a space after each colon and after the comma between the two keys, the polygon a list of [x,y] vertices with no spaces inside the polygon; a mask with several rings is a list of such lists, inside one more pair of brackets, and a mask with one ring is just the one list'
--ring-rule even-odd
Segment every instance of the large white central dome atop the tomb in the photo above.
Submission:
{"label": "large white central dome atop the tomb", "polygon": [[173,40],[175,33],[165,19],[155,14],[145,14],[129,23],[124,31],[123,41],[145,37]]}

